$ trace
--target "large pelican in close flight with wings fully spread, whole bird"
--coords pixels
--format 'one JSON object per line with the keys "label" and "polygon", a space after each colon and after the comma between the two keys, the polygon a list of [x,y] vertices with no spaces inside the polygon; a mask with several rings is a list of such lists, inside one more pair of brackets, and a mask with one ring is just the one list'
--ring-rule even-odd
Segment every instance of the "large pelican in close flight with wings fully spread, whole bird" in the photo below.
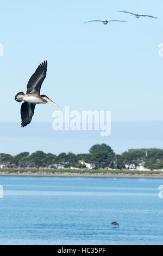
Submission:
{"label": "large pelican in close flight with wings fully spread, whole bird", "polygon": [[46,95],[40,96],[40,88],[43,80],[46,78],[47,61],[42,62],[37,67],[35,73],[31,76],[27,84],[27,92],[18,92],[15,96],[17,102],[22,102],[21,105],[21,127],[27,126],[32,120],[34,115],[35,105],[40,103],[51,103],[55,106],[59,106],[49,99]]}

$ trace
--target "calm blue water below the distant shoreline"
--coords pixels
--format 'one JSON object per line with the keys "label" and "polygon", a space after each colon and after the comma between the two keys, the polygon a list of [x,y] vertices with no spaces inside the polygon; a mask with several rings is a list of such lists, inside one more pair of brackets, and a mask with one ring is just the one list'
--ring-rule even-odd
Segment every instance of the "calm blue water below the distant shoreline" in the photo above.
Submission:
{"label": "calm blue water below the distant shoreline", "polygon": [[163,179],[1,176],[0,185],[1,245],[163,245]]}

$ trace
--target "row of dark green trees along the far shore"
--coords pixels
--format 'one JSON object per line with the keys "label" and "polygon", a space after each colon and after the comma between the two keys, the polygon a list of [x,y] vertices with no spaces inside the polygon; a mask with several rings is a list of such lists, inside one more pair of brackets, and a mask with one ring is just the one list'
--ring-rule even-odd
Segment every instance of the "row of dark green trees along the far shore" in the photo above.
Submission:
{"label": "row of dark green trees along the far shore", "polygon": [[[81,163],[82,162],[82,163]],[[48,167],[57,168],[62,165],[65,168],[76,167],[86,168],[85,163],[92,164],[93,168],[112,168],[125,169],[130,168],[131,165],[143,165],[148,169],[163,169],[163,150],[157,148],[141,148],[131,149],[122,154],[115,154],[112,148],[106,144],[93,145],[89,153],[73,154],[60,153],[57,155],[52,153],[44,153],[43,151],[36,151],[29,154],[29,152],[22,152],[16,156],[1,153],[0,163],[8,164],[8,168],[40,168]]]}

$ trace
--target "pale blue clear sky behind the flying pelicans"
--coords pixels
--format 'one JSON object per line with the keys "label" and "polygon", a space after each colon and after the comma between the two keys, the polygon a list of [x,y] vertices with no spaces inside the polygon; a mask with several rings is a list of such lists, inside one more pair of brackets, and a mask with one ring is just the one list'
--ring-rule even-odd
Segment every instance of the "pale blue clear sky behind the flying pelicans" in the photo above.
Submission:
{"label": "pale blue clear sky behind the flying pelicans", "polygon": [[[0,57],[0,151],[12,154],[20,152],[22,148],[15,142],[20,133],[23,133],[21,138],[24,142],[28,141],[24,151],[44,149],[54,153],[64,150],[77,153],[89,150],[87,139],[90,133],[85,133],[84,145],[83,139],[80,140],[80,133],[74,137],[73,133],[71,136],[68,132],[64,136],[59,133],[58,141],[53,141],[54,144],[57,142],[58,150],[47,145],[46,137],[42,139],[45,148],[40,146],[39,126],[37,129],[40,137],[32,139],[30,134],[34,122],[48,122],[52,129],[52,112],[56,108],[51,104],[37,105],[32,123],[21,131],[21,104],[14,97],[17,92],[26,92],[30,76],[44,59],[48,61],[48,70],[41,93],[58,103],[60,110],[64,110],[64,106],[78,111],[111,110],[112,122],[119,122],[120,129],[123,122],[161,122],[163,57],[158,55],[158,45],[163,43],[162,9],[161,0],[1,2],[0,43],[4,47],[4,56]],[[118,13],[117,10],[153,15],[159,19],[136,19],[133,15]],[[128,22],[110,22],[106,26],[101,22],[84,24],[85,21],[94,19],[120,19]],[[5,122],[16,123],[15,135],[10,130],[11,123],[8,134],[5,133]],[[149,129],[148,122],[146,124],[141,131],[144,134]],[[44,133],[47,132],[46,127]],[[95,141],[92,138],[91,143],[102,140],[119,153],[131,147],[163,147],[162,142],[162,146],[160,145],[163,132],[159,133],[159,144],[149,136],[147,144],[142,145],[142,138],[139,140],[140,144],[135,142],[134,127],[136,126],[132,128],[133,141],[129,138],[126,140],[125,133],[128,131],[124,130],[121,138],[123,143],[121,141],[118,144],[117,141],[114,144],[111,137],[99,137]]]}

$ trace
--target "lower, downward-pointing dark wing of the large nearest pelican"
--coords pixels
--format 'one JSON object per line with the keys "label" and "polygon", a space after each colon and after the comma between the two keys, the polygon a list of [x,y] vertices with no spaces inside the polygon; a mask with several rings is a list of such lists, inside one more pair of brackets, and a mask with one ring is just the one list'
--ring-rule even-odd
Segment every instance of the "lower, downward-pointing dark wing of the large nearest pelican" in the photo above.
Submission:
{"label": "lower, downward-pointing dark wing of the large nearest pelican", "polygon": [[24,102],[21,105],[21,117],[22,117],[22,123],[21,127],[27,126],[32,120],[32,117],[34,115],[35,105],[33,103]]}

